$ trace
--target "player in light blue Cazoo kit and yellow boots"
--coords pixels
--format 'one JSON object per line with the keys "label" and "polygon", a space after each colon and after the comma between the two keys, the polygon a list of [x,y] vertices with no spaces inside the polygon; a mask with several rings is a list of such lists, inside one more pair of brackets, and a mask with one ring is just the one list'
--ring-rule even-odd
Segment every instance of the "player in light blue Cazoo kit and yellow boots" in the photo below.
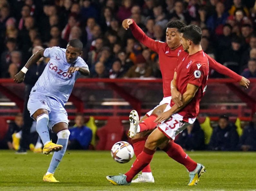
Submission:
{"label": "player in light blue Cazoo kit and yellow boots", "polygon": [[[78,39],[71,40],[67,49],[50,47],[37,51],[31,56],[23,69],[14,76],[16,83],[24,80],[29,67],[41,57],[49,57],[42,75],[32,88],[27,104],[30,116],[36,120],[36,131],[40,135],[44,147],[43,153],[55,152],[49,169],[43,176],[43,181],[59,182],[53,174],[65,154],[70,132],[68,130],[68,115],[64,109],[71,94],[76,79],[81,75],[89,75],[89,69],[80,57],[83,44]],[[57,144],[52,143],[48,128],[57,133]]]}

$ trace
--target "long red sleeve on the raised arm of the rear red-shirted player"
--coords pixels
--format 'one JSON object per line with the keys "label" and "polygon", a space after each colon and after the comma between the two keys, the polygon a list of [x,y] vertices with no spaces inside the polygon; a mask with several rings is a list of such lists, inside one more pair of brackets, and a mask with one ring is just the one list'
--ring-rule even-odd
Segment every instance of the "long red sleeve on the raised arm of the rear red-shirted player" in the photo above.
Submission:
{"label": "long red sleeve on the raised arm of the rear red-shirted player", "polygon": [[133,36],[143,45],[147,46],[151,50],[155,51],[158,54],[159,48],[162,43],[164,42],[159,42],[155,41],[152,38],[149,38],[141,28],[135,23],[135,21],[132,19],[133,23],[129,26]]}

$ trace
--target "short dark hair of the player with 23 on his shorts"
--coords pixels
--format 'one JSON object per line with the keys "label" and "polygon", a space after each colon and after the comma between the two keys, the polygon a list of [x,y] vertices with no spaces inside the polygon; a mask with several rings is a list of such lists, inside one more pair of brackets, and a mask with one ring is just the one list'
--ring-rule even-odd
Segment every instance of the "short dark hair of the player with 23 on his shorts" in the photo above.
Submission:
{"label": "short dark hair of the player with 23 on his shorts", "polygon": [[189,25],[180,29],[183,38],[191,40],[195,45],[199,45],[202,39],[202,30],[196,25]]}

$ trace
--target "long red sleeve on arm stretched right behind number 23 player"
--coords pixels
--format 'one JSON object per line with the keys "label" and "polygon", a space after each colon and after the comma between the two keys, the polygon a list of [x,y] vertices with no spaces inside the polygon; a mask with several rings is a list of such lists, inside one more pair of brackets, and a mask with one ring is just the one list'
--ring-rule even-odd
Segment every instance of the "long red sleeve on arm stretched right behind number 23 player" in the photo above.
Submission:
{"label": "long red sleeve on arm stretched right behind number 23 player", "polygon": [[[205,54],[205,53],[204,53]],[[209,60],[209,68],[219,72],[220,74],[223,74],[225,76],[228,76],[237,82],[240,82],[242,79],[242,76],[238,75],[237,73],[233,72],[232,70],[228,69],[227,67],[223,66],[213,58],[211,58],[209,55],[205,54]]]}

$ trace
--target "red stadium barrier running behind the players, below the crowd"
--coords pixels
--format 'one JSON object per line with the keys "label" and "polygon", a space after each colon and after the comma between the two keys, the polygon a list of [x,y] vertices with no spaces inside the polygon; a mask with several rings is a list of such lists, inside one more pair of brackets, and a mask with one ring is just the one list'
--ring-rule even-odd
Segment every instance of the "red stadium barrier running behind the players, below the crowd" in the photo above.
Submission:
{"label": "red stadium barrier running behind the players, below the crowd", "polygon": [[[208,79],[207,90],[200,105],[200,116],[216,120],[226,114],[241,120],[250,120],[256,111],[256,79],[250,79],[245,90],[232,79]],[[14,102],[14,106],[0,106],[0,116],[13,119],[23,111],[24,84],[13,79],[0,79],[0,102]],[[106,120],[109,116],[128,119],[131,109],[144,115],[162,100],[162,79],[78,79],[66,105],[70,119],[83,112],[95,119]]]}

